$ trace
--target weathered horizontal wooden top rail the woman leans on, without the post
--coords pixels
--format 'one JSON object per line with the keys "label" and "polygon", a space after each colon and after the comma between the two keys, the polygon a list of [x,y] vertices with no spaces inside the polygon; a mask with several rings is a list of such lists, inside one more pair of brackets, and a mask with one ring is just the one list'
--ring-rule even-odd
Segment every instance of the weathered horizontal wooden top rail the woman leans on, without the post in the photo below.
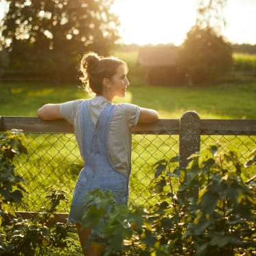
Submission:
{"label": "weathered horizontal wooden top rail the woman leans on, without the post", "polygon": [[[194,113],[196,112],[187,111],[183,117]],[[160,119],[154,124],[136,126],[132,128],[132,133],[178,135],[180,121],[180,119]],[[256,119],[198,119],[198,122],[200,135],[256,135]],[[12,128],[22,129],[24,132],[73,133],[73,127],[64,119],[44,121],[38,117],[0,116],[0,132]]]}

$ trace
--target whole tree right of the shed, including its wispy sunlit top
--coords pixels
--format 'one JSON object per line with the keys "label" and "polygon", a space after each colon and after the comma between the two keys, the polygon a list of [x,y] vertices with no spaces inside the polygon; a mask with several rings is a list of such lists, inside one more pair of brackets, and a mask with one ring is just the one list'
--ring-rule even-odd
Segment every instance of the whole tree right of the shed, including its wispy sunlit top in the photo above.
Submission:
{"label": "whole tree right of the shed, including its wispy sunlit top", "polygon": [[232,48],[221,35],[225,25],[222,9],[226,1],[199,0],[196,25],[181,46],[179,65],[190,84],[209,84],[231,71]]}

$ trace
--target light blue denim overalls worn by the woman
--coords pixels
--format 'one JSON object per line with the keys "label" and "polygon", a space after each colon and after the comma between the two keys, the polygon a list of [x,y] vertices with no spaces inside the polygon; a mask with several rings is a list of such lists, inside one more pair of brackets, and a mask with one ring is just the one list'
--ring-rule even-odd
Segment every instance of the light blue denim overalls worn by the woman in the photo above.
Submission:
{"label": "light blue denim overalls worn by the woman", "polygon": [[130,170],[128,176],[120,174],[111,165],[108,156],[108,132],[115,105],[106,105],[94,127],[87,104],[87,100],[81,104],[84,167],[75,184],[69,213],[69,221],[80,224],[84,196],[89,191],[94,189],[110,190],[113,192],[117,204],[127,204],[130,178]]}

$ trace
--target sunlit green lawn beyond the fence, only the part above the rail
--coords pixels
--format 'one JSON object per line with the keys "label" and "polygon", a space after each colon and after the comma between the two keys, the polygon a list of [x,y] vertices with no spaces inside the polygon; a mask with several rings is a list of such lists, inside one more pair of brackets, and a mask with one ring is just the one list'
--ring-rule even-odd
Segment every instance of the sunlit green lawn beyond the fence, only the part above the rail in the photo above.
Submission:
{"label": "sunlit green lawn beyond the fence, only the part above the rail", "polygon": [[[128,78],[130,86],[122,101],[155,108],[162,119],[179,119],[187,110],[196,110],[202,119],[256,118],[256,79],[255,82],[209,87],[164,87],[147,84],[142,78],[133,79],[132,74]],[[36,116],[36,110],[45,103],[89,97],[78,85],[2,83],[0,115]]]}

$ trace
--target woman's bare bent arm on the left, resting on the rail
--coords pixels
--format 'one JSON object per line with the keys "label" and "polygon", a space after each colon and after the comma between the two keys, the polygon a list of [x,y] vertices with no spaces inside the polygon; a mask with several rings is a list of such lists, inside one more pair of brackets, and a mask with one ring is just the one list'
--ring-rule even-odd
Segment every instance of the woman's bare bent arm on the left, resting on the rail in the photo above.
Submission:
{"label": "woman's bare bent arm on the left, resting on the rail", "polygon": [[60,115],[60,104],[45,104],[37,110],[37,115],[43,120],[63,119]]}

